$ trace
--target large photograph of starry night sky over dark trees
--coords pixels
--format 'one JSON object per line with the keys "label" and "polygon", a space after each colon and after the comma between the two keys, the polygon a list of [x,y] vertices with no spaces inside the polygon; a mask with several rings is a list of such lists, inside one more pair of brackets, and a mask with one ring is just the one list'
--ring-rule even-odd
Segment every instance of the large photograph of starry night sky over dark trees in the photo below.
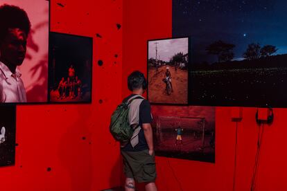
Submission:
{"label": "large photograph of starry night sky over dark trees", "polygon": [[195,105],[287,107],[287,1],[173,0]]}

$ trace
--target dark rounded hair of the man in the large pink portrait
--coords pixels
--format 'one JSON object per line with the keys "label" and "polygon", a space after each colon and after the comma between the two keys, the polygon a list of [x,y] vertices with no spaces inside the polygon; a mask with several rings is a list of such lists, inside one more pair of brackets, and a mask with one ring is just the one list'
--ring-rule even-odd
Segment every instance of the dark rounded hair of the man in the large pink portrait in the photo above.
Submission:
{"label": "dark rounded hair of the man in the large pink portrait", "polygon": [[9,28],[20,28],[26,35],[30,33],[31,22],[25,10],[4,4],[0,6],[0,42],[8,34]]}

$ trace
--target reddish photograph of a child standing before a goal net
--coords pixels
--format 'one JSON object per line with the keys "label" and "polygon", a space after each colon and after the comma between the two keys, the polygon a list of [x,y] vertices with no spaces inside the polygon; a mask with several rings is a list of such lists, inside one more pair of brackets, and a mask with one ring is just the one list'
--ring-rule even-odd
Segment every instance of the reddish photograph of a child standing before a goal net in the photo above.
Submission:
{"label": "reddish photograph of a child standing before a goal net", "polygon": [[153,105],[155,154],[215,162],[215,107]]}

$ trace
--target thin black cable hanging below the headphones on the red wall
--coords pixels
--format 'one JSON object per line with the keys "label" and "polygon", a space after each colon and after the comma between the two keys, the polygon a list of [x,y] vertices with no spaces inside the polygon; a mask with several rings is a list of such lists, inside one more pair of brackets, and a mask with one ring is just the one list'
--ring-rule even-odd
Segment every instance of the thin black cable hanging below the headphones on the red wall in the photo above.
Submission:
{"label": "thin black cable hanging below the headphones on the red wall", "polygon": [[263,131],[264,131],[263,124],[262,124],[262,127],[260,124],[258,125],[258,127],[259,127],[259,131],[258,131],[258,139],[257,139],[257,150],[256,150],[256,155],[255,155],[255,163],[253,167],[253,175],[252,175],[252,181],[251,181],[251,187],[250,187],[251,191],[255,190],[255,181],[256,181],[256,175],[257,175],[258,167],[259,167],[259,158],[260,158],[259,156],[260,156]]}

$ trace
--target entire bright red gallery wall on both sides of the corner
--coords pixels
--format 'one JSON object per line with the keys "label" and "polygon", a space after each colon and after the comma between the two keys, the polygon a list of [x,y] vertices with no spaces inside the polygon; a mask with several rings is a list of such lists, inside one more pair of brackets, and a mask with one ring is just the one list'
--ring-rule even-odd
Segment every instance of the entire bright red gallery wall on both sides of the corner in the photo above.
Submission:
{"label": "entire bright red gallery wall on both sides of the corner", "polygon": [[[123,23],[119,30],[117,23]],[[0,189],[78,191],[120,185],[119,147],[108,131],[110,114],[128,95],[128,74],[146,72],[146,40],[171,37],[171,0],[52,0],[51,30],[94,37],[92,104],[17,107],[16,164],[1,167]],[[255,111],[244,108],[238,123],[236,190],[250,190]],[[287,110],[274,113],[275,121],[263,135],[257,190],[287,190]],[[215,164],[156,157],[159,190],[232,190],[235,126],[231,109],[218,107]]]}

